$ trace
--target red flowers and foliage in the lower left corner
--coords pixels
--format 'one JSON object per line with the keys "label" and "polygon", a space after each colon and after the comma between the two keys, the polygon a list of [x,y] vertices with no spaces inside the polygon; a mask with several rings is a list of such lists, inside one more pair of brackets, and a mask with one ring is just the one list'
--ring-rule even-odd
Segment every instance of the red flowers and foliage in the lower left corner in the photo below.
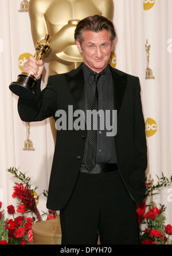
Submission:
{"label": "red flowers and foliage in the lower left corner", "polygon": [[[5,211],[0,211],[0,244],[30,244],[33,241],[32,225],[37,221],[41,221],[42,217],[37,209],[36,199],[34,198],[34,191],[29,184],[30,178],[25,174],[19,172],[17,169],[8,169],[9,173],[13,174],[15,178],[18,178],[22,183],[15,183],[13,198],[17,198],[18,205],[15,211],[13,205],[7,207],[7,213],[13,216],[13,218],[5,219]],[[42,193],[47,196],[47,192],[44,190]],[[0,209],[2,202],[0,201]],[[28,217],[31,213],[32,217]],[[20,215],[15,217],[14,215]],[[36,217],[34,217],[35,215]],[[48,211],[48,219],[56,219],[58,215],[55,211]]]}

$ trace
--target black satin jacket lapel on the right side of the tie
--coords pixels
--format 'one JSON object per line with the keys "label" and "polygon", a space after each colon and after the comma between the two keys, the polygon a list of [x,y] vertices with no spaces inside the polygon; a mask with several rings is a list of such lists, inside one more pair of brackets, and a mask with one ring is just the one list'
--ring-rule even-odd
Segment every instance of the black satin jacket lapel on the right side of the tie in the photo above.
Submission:
{"label": "black satin jacket lapel on the right side of the tie", "polygon": [[127,75],[119,75],[114,68],[110,66],[112,79],[113,79],[113,87],[114,87],[114,109],[117,110],[117,114],[119,114],[120,107],[122,105],[124,93],[126,91],[127,85]]}

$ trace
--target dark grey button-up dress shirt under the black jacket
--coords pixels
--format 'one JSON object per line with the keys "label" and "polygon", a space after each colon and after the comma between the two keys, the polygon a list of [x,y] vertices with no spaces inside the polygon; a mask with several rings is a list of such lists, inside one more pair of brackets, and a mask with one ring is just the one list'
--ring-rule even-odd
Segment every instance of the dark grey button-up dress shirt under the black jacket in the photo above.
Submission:
{"label": "dark grey button-up dress shirt under the black jacket", "polygon": [[[101,126],[102,122],[100,125],[100,121],[103,119],[101,119],[101,116],[98,116],[96,163],[117,163],[115,139],[114,136],[107,136],[107,132],[110,132],[110,130],[107,130],[105,125],[105,110],[110,110],[109,124],[112,125],[112,109],[114,109],[113,81],[109,64],[104,68],[103,72],[104,74],[102,74],[97,81],[97,91],[99,97],[99,110],[103,110],[104,112],[104,129],[101,129],[103,128]],[[83,74],[85,82],[85,100],[88,109],[89,100],[91,98],[93,71],[85,63],[83,63]],[[80,171],[89,172],[84,165],[84,158],[85,150]],[[96,168],[93,169],[91,173],[96,173]]]}

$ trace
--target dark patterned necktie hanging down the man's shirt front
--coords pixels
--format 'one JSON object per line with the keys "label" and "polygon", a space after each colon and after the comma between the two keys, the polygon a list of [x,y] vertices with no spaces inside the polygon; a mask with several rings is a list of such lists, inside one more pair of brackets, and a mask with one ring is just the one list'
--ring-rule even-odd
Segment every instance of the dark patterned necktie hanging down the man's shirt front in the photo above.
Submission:
{"label": "dark patterned necktie hanging down the man's shirt front", "polygon": [[[92,83],[92,91],[91,91],[91,100],[89,102],[89,110],[99,110],[98,106],[98,92],[97,92],[97,80],[99,79],[100,75],[103,74],[103,72],[100,72],[97,74],[96,72],[93,72],[94,74],[94,81]],[[95,120],[93,120],[93,115],[91,115],[91,119],[87,120],[88,127],[91,127],[91,130],[87,131],[87,140],[85,145],[85,166],[89,171],[92,171],[92,169],[96,165],[96,150],[97,150],[97,130],[94,129],[95,127]]]}

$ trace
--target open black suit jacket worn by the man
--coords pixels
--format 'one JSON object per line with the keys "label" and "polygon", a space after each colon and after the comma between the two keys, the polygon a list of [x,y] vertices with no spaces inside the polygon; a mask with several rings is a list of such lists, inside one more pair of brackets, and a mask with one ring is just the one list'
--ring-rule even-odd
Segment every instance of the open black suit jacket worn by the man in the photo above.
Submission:
{"label": "open black suit jacket worn by the man", "polygon": [[[114,109],[118,111],[117,134],[114,136],[120,175],[131,197],[139,204],[145,193],[147,146],[140,100],[139,79],[111,67],[114,81]],[[23,121],[41,121],[56,110],[68,113],[68,105],[86,109],[82,64],[65,74],[50,76],[48,85],[35,86],[34,100],[18,100],[18,113]],[[67,125],[68,127],[68,125]],[[57,132],[56,146],[49,181],[47,208],[59,210],[67,203],[77,181],[83,159],[86,131]]]}

